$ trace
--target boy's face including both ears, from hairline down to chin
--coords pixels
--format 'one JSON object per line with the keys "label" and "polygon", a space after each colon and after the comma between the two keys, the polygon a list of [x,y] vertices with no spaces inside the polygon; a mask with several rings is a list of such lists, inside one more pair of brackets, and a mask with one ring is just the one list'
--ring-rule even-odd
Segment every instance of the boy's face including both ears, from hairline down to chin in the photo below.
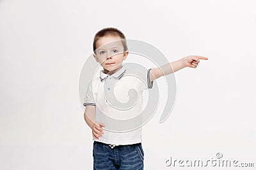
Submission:
{"label": "boy's face including both ears, from hairline down to chin", "polygon": [[117,71],[127,58],[128,52],[124,52],[121,40],[118,36],[104,36],[96,42],[97,49],[93,57],[104,68],[105,73]]}

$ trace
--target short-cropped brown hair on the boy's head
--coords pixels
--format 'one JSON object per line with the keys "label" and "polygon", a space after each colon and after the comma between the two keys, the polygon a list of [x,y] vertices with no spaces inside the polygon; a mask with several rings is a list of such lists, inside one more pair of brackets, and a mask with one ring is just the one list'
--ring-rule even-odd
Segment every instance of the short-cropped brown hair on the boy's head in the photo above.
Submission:
{"label": "short-cropped brown hair on the boy's head", "polygon": [[93,39],[93,52],[95,52],[95,50],[96,50],[97,41],[104,36],[119,36],[120,38],[122,38],[124,52],[128,50],[128,46],[127,46],[127,42],[126,42],[124,33],[114,27],[106,27],[104,29],[101,29],[100,31],[98,31],[95,34],[94,39]]}

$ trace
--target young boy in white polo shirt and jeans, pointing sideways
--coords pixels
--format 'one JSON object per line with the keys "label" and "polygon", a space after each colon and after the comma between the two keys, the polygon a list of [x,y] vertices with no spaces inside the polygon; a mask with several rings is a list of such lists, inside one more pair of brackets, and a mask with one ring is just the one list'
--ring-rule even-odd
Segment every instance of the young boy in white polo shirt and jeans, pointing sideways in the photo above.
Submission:
{"label": "young boy in white polo shirt and jeans, pointing sideways", "polygon": [[[95,34],[93,41],[93,57],[100,63],[103,70],[99,78],[95,78],[88,85],[84,99],[84,120],[92,129],[93,136],[93,169],[143,169],[144,152],[141,146],[141,128],[129,132],[106,131],[104,122],[99,122],[97,115],[106,114],[114,118],[131,118],[133,113],[139,113],[143,103],[142,91],[151,89],[153,81],[161,76],[166,76],[184,67],[196,68],[200,59],[207,60],[207,57],[189,55],[175,62],[168,63],[161,67],[148,69],[145,73],[147,87],[142,87],[135,78],[124,78],[127,67],[122,65],[127,58],[128,47],[124,34],[116,28],[108,27]],[[171,69],[164,67],[172,66]],[[104,96],[104,84],[115,85],[116,97],[121,101],[127,100],[127,88],[133,87],[138,91],[138,105],[132,110],[116,110],[111,107]],[[114,89],[108,88],[109,92]],[[108,91],[107,90],[107,91]],[[131,115],[133,114],[133,115]],[[90,115],[90,116],[89,116]]]}

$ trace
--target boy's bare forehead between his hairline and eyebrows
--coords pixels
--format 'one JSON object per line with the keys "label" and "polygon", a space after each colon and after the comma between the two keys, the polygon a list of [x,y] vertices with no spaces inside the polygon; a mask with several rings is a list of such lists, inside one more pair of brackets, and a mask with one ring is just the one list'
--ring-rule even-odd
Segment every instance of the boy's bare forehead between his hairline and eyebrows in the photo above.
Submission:
{"label": "boy's bare forehead between his hairline and eyebrows", "polygon": [[97,48],[123,48],[122,38],[117,36],[107,36],[98,39]]}

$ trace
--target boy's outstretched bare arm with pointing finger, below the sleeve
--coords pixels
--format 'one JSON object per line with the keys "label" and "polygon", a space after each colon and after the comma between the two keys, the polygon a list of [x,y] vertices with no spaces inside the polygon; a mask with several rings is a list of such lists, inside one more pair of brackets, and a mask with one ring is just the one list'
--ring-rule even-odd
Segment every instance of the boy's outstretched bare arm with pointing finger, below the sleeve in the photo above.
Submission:
{"label": "boy's outstretched bare arm with pointing finger, below the sleeve", "polygon": [[189,55],[188,57],[184,57],[177,61],[170,62],[164,64],[163,66],[153,68],[150,70],[149,79],[150,81],[156,80],[161,76],[172,74],[180,69],[183,69],[184,67],[196,68],[196,66],[198,66],[198,63],[200,62],[200,59],[208,60],[207,57],[202,57],[199,55]]}

